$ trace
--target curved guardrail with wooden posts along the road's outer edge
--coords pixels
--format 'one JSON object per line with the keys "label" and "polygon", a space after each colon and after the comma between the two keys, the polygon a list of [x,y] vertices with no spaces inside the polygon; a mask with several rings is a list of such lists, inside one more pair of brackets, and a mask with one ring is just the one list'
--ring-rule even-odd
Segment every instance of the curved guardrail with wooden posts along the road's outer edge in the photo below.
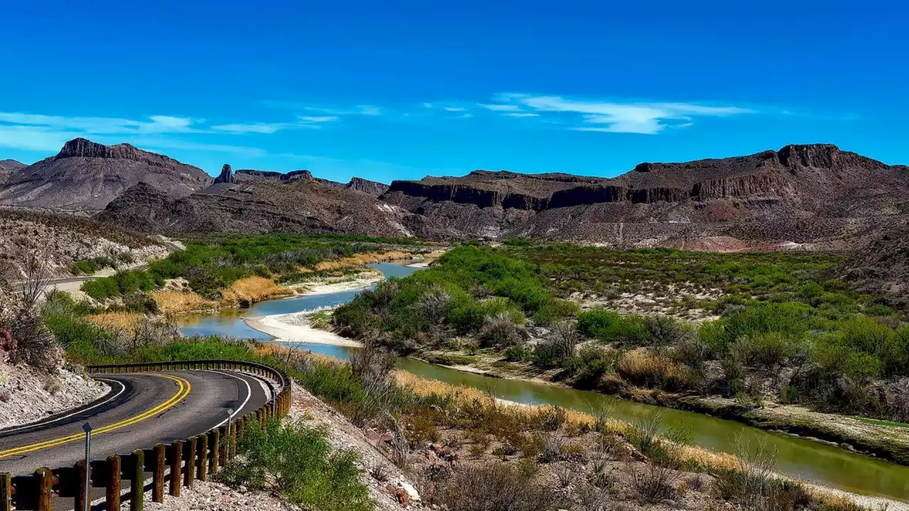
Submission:
{"label": "curved guardrail with wooden posts along the road's outer edge", "polygon": [[[195,480],[205,481],[216,474],[236,454],[236,444],[250,421],[265,424],[268,416],[284,416],[291,405],[290,378],[278,369],[255,362],[235,360],[187,360],[151,364],[117,364],[88,366],[89,373],[142,373],[167,370],[229,370],[252,373],[274,379],[280,390],[265,405],[245,416],[236,417],[227,425],[211,429],[192,438],[175,439],[171,444],[157,444],[150,449],[135,449],[131,453],[92,460],[89,478],[85,481],[85,462],[58,468],[40,467],[34,474],[11,476],[0,474],[0,511],[52,511],[55,497],[72,498],[75,509],[84,507],[85,485],[105,488],[105,509],[119,510],[120,499],[128,496],[131,511],[142,511],[145,499],[145,474],[152,479],[152,500],[164,502],[165,486],[172,496],[180,496],[181,486],[193,486]],[[169,470],[168,470],[169,467]],[[129,482],[122,492],[121,482]],[[68,506],[67,506],[68,507]]]}

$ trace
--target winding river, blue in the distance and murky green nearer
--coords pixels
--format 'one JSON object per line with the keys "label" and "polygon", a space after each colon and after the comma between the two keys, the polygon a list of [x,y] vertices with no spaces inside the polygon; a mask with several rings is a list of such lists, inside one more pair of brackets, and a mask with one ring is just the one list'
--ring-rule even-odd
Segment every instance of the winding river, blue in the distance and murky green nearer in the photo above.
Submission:
{"label": "winding river, blue in the distance and murky green nearer", "polygon": [[[383,272],[385,276],[407,276],[419,269],[390,263],[370,266]],[[350,301],[357,293],[359,291],[345,291],[269,300],[242,310],[229,310],[213,315],[182,316],[179,323],[186,336],[218,334],[267,341],[270,336],[246,326],[243,318],[337,306]],[[355,349],[306,343],[295,346],[342,359],[349,356],[351,349]],[[454,385],[491,388],[494,389],[496,396],[518,403],[547,403],[589,412],[594,404],[603,401],[602,395],[591,391],[474,375],[410,358],[400,358],[398,362],[400,368],[417,376]],[[768,432],[730,420],[623,399],[612,400],[611,416],[618,420],[634,422],[656,414],[661,416],[664,427],[689,429],[694,435],[694,443],[699,446],[734,453],[737,436],[744,436],[745,440],[752,443],[762,440],[769,445],[777,446],[776,469],[787,476],[848,492],[909,502],[909,466],[895,465],[820,442]]]}

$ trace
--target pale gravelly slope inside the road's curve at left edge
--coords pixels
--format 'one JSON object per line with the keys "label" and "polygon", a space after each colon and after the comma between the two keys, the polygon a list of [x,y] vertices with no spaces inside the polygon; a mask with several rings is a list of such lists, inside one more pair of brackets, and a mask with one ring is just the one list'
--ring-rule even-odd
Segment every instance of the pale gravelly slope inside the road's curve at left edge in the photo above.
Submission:
{"label": "pale gravelly slope inside the road's curve at left edge", "polygon": [[48,375],[24,364],[0,362],[0,428],[27,424],[85,405],[104,396],[108,388],[66,369]]}

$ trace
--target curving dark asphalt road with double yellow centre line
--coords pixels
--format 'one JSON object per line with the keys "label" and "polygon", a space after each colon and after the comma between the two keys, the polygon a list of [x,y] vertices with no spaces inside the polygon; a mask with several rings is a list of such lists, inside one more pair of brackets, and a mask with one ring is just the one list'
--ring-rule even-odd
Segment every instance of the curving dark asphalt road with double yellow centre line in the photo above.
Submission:
{"label": "curving dark asphalt road with double yellow centre line", "polygon": [[0,472],[31,474],[39,466],[72,466],[82,458],[86,421],[95,426],[92,458],[200,435],[265,404],[255,376],[231,371],[162,371],[98,375],[111,393],[75,411],[0,431]]}

